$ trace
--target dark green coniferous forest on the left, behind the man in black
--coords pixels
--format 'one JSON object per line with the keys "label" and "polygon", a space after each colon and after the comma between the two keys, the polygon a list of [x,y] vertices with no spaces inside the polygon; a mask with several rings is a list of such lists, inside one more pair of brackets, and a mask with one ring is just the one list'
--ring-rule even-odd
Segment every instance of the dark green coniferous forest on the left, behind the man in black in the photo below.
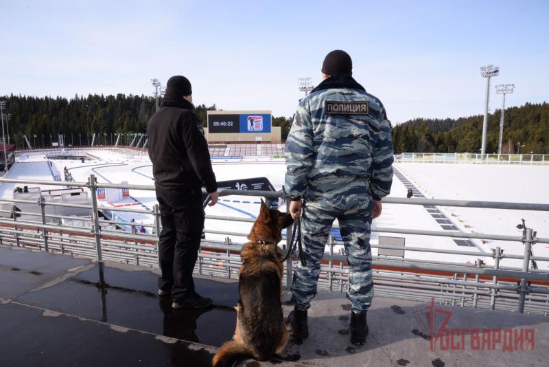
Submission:
{"label": "dark green coniferous forest on the left, behind the man in black", "polygon": [[[17,148],[21,148],[23,135],[36,147],[51,146],[52,141],[58,141],[58,134],[65,135],[65,145],[89,145],[94,133],[99,138],[95,144],[113,144],[117,133],[145,133],[156,109],[154,97],[124,94],[77,95],[70,100],[12,95],[0,96],[0,100],[6,102],[4,113],[10,114],[6,130]],[[203,124],[207,110],[215,110],[215,104],[195,109]]]}

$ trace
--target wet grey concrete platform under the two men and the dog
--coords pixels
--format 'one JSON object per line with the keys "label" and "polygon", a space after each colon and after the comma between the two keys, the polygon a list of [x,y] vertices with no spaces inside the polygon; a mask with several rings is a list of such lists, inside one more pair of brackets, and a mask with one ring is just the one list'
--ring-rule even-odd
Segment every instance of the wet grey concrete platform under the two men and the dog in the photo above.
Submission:
{"label": "wet grey concrete platform under the two men and the dog", "polygon": [[[109,262],[99,270],[91,260],[0,246],[0,366],[209,366],[231,339],[235,280],[197,277],[213,307],[174,311],[156,296],[156,271]],[[285,315],[291,309],[285,304]],[[321,292],[307,340],[291,340],[281,360],[239,366],[547,366],[549,318],[377,297],[367,344],[357,347],[350,312],[344,294]],[[452,337],[434,337],[443,324]],[[522,348],[504,350],[501,329],[524,331]]]}

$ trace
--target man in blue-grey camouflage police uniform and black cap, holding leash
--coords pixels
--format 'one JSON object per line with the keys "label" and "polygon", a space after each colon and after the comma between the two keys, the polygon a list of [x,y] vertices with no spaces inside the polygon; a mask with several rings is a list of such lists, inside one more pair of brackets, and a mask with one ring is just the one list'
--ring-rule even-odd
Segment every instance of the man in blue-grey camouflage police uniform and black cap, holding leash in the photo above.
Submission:
{"label": "man in blue-grey camouflage police uniform and black cap, holding leash", "polygon": [[[349,263],[351,342],[366,342],[366,311],[373,298],[370,232],[393,181],[391,126],[382,102],[352,78],[347,52],[323,63],[323,82],[299,102],[285,145],[285,190],[290,212],[301,215],[306,266],[292,283],[294,335],[309,335],[307,309],[316,295],[320,260],[338,219]],[[303,201],[303,203],[302,203]]]}

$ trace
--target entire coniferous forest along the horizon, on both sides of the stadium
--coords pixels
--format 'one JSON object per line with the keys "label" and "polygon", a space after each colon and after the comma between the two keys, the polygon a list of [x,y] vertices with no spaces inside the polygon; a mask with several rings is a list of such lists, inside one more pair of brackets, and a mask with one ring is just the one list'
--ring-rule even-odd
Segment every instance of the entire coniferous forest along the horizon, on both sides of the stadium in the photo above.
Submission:
{"label": "entire coniferous forest along the horizon, on both sides of the stadium", "polygon": [[[10,114],[10,142],[21,148],[23,134],[33,146],[51,146],[58,134],[65,135],[65,145],[89,145],[94,133],[95,144],[113,144],[117,133],[145,133],[147,122],[155,111],[151,96],[99,96],[97,94],[67,98],[0,96],[6,101],[4,113]],[[200,104],[195,112],[206,126],[208,110]],[[489,115],[486,153],[498,152],[500,113]],[[509,107],[504,113],[502,153],[549,154],[549,103],[526,103]],[[6,120],[6,116],[4,116]],[[482,140],[482,115],[458,119],[417,118],[393,127],[395,154],[479,153]],[[288,136],[291,118],[273,117],[272,125],[281,126],[282,140]],[[7,131],[6,131],[7,133]]]}

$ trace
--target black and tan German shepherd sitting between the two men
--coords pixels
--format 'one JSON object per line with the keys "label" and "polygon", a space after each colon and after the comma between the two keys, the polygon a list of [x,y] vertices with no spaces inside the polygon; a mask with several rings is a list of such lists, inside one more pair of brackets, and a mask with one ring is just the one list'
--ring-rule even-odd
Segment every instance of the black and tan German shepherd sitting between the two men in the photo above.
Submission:
{"label": "black and tan German shepherd sitting between the two men", "polygon": [[240,254],[235,335],[215,354],[213,367],[233,366],[245,357],[265,361],[275,353],[282,353],[288,331],[281,304],[283,267],[274,257],[274,249],[281,255],[276,244],[281,241],[282,229],[292,223],[290,214],[269,209],[261,200],[259,216],[248,235],[250,241]]}

